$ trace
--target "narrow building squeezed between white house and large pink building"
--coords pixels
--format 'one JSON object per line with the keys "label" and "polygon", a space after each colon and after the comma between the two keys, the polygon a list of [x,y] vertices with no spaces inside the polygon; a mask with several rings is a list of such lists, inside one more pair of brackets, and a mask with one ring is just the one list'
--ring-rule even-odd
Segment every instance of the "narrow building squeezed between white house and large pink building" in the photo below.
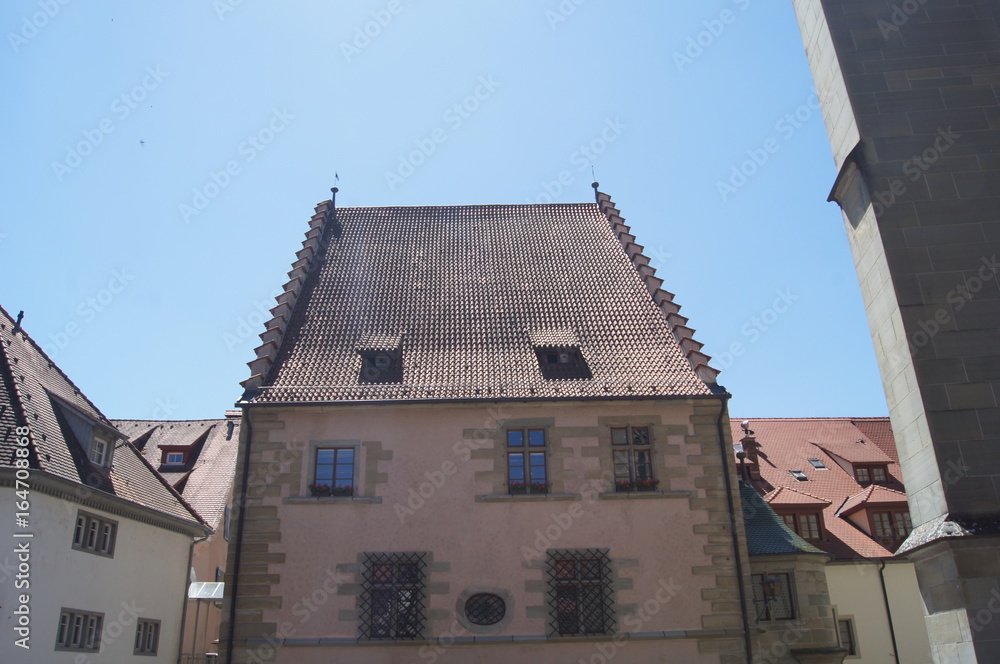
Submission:
{"label": "narrow building squeezed between white house and large pink building", "polygon": [[240,411],[211,420],[112,420],[132,445],[213,529],[195,542],[185,631],[185,664],[217,654]]}

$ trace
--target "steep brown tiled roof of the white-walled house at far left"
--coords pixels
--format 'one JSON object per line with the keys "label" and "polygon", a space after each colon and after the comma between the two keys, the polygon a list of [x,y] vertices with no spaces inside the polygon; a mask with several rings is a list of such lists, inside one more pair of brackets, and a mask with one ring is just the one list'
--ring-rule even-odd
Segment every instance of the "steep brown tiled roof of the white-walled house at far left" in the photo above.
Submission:
{"label": "steep brown tiled roof of the white-walled house at far left", "polygon": [[[97,407],[0,307],[0,420],[30,429],[31,466],[53,476],[118,496],[186,521],[200,522]],[[110,472],[95,471],[85,456],[67,413],[91,422],[119,439]],[[0,466],[13,466],[10,429],[0,440]]]}

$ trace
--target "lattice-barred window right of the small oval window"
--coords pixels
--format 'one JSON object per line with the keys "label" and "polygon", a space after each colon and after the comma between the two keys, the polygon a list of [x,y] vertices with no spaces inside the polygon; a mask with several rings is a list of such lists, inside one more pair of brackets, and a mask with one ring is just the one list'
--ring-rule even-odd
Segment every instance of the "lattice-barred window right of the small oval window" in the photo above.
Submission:
{"label": "lattice-barred window right of the small oval window", "polygon": [[548,552],[549,636],[613,634],[611,561],[603,549]]}

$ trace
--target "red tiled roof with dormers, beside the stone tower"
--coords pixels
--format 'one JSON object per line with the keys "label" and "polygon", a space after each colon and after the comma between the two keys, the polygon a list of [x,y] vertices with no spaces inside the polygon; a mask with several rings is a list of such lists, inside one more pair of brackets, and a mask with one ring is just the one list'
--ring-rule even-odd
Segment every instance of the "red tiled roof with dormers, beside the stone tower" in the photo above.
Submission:
{"label": "red tiled roof with dormers, beside the stone tower", "polygon": [[[758,468],[762,478],[753,481],[752,485],[758,493],[776,498],[769,501],[773,508],[781,511],[782,508],[791,510],[796,505],[811,509],[822,507],[826,539],[812,543],[835,558],[892,556],[892,551],[845,516],[838,515],[852,496],[861,496],[860,500],[874,495],[879,499],[892,497],[905,501],[899,457],[891,444],[888,418],[751,418],[749,422],[759,446]],[[731,427],[733,441],[743,439],[738,418],[732,419]],[[864,439],[865,444],[857,443],[859,439]],[[855,446],[864,452],[848,451],[855,450]],[[858,484],[849,472],[851,464],[838,461],[827,450],[835,450],[837,456],[850,455],[859,463],[884,462],[888,467],[888,481],[885,485]],[[814,468],[809,459],[818,459],[826,469]],[[801,470],[808,479],[797,480],[789,472],[791,470]],[[811,498],[811,502],[806,497]]]}

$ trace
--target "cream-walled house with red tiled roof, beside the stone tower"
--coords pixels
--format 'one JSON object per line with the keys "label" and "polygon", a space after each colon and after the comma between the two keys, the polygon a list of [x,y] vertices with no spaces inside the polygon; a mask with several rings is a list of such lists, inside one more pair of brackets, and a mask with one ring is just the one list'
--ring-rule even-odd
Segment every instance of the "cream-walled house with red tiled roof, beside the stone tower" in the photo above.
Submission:
{"label": "cream-walled house with red tiled roof, beside the stone tower", "polygon": [[748,485],[830,556],[847,661],[929,662],[914,565],[894,555],[911,521],[889,419],[754,418],[733,420],[731,430]]}

